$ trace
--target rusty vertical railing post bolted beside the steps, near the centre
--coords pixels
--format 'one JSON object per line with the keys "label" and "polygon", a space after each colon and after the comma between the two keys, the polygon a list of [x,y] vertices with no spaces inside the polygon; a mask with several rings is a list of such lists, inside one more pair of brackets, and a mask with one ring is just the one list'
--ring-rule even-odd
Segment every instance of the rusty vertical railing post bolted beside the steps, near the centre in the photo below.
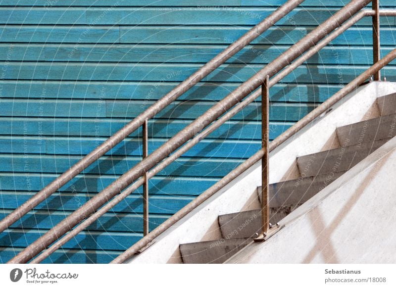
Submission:
{"label": "rusty vertical railing post bolted beside the steps, near the centre", "polygon": [[264,152],[261,159],[261,233],[269,230],[269,195],[268,195],[268,144],[269,144],[269,76],[261,87],[261,148]]}

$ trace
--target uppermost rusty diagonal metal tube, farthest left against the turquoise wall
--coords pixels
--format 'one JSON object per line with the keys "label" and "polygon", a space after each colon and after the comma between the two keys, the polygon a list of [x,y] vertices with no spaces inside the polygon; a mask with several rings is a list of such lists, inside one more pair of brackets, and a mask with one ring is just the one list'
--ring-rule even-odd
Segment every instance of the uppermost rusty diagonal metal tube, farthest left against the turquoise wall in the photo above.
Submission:
{"label": "uppermost rusty diagonal metal tube, farthest left against the turquoise wall", "polygon": [[212,60],[203,65],[197,72],[192,74],[185,81],[180,83],[171,92],[156,101],[147,110],[142,112],[138,117],[129,122],[122,129],[117,131],[114,135],[109,137],[105,142],[100,144],[95,150],[88,155],[84,156],[80,161],[70,167],[67,171],[61,174],[58,178],[47,185],[43,190],[36,193],[33,197],[20,205],[5,218],[0,220],[0,233],[7,229],[10,225],[15,223],[22,216],[26,215],[34,207],[44,201],[51,194],[59,190],[62,186],[72,180],[75,176],[79,175],[84,169],[89,167],[92,163],[97,161],[101,156],[108,152],[115,145],[123,141],[128,135],[142,126],[145,119],[151,119],[155,114],[161,111],[164,107],[168,106],[179,96],[183,95],[190,88],[196,85],[200,80],[209,75],[212,71],[218,68],[221,64],[225,63],[229,58],[242,50],[250,42],[260,36],[268,28],[273,26],[277,21],[282,19],[286,14],[292,11],[304,0],[289,0],[281,7],[276,9],[271,15],[262,20],[259,24],[250,29],[236,42],[232,43],[224,51],[216,55]]}

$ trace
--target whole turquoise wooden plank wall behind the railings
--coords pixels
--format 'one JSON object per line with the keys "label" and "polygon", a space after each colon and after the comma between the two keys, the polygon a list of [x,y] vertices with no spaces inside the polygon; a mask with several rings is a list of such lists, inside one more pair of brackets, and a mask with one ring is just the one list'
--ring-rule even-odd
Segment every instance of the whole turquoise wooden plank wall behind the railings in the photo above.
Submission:
{"label": "whole turquoise wooden plank wall behind the railings", "polygon": [[[0,218],[139,115],[285,0],[0,0]],[[347,0],[306,0],[149,121],[164,143]],[[210,7],[208,6],[210,5]],[[227,5],[227,6],[225,6]],[[394,9],[394,0],[381,0]],[[274,139],[372,63],[361,20],[271,89]],[[382,18],[385,55],[395,17]],[[396,80],[396,66],[384,74]],[[254,102],[150,182],[150,229],[260,146]],[[141,158],[141,131],[0,235],[9,260]],[[107,263],[142,237],[141,190],[46,261]]]}

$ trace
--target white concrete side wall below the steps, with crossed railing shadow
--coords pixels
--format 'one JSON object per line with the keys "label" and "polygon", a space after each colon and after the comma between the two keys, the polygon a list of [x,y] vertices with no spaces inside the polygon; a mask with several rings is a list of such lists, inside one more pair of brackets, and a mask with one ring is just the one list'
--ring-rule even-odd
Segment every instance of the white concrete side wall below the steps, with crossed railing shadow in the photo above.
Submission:
{"label": "white concrete side wall below the steps, with crossed railing shadow", "polygon": [[396,138],[227,263],[396,263]]}

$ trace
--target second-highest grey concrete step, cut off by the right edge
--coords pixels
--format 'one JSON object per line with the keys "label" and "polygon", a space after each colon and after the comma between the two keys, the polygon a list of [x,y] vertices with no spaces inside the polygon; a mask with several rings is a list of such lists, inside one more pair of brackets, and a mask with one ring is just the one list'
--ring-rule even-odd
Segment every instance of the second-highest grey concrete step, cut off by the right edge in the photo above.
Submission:
{"label": "second-highest grey concrete step, cut off by the right edge", "polygon": [[396,114],[353,123],[337,128],[337,136],[342,146],[373,143],[376,140],[392,138],[396,133]]}

